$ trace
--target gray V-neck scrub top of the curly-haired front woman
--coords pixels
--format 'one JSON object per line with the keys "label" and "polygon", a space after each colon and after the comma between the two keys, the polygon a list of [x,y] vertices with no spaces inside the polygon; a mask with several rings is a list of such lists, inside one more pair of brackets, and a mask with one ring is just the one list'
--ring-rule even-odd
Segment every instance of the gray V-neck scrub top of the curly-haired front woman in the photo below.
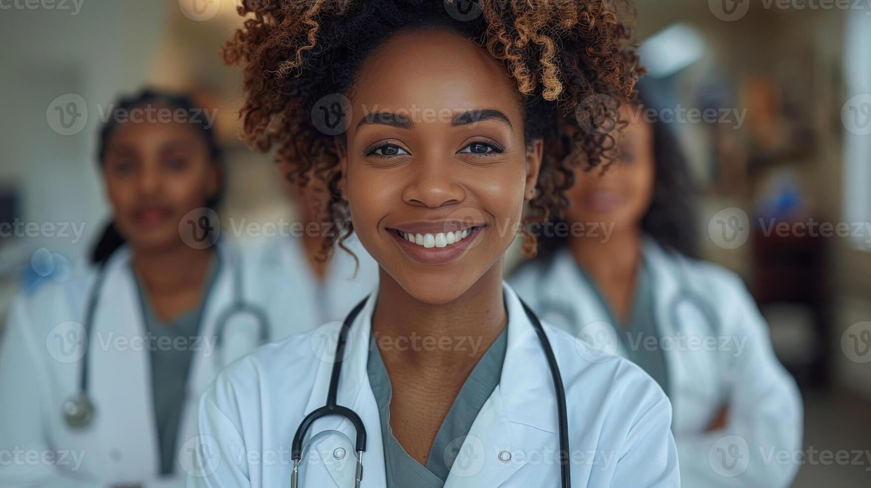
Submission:
{"label": "gray V-neck scrub top of the curly-haired front woman", "polygon": [[508,328],[506,327],[490,344],[481,359],[469,373],[463,388],[456,395],[454,403],[444,417],[432,447],[429,448],[427,465],[422,466],[402,449],[402,445],[393,436],[390,428],[390,398],[393,390],[387,369],[381,360],[381,353],[375,346],[374,338],[369,341],[369,356],[366,366],[369,383],[378,403],[381,415],[381,438],[384,442],[384,471],[387,475],[388,488],[442,488],[448,479],[450,467],[454,464],[457,452],[463,446],[463,440],[469,434],[469,429],[483,404],[487,402],[499,377],[502,376],[502,364],[505,361],[505,349],[508,347]]}

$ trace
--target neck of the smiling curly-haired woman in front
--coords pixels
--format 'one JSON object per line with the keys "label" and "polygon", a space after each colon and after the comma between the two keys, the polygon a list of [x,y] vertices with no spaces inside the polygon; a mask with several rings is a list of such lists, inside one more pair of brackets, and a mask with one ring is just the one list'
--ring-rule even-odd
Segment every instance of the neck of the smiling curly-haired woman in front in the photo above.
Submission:
{"label": "neck of the smiling curly-haired woman in front", "polygon": [[508,323],[502,278],[500,258],[463,295],[433,304],[409,295],[381,269],[372,331],[384,362],[417,370],[477,363]]}

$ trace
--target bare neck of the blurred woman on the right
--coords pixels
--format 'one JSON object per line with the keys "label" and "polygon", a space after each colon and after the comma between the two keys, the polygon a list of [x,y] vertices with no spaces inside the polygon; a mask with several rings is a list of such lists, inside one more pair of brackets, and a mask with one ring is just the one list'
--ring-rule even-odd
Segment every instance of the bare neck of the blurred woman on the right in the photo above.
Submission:
{"label": "bare neck of the blurred woman on the right", "polygon": [[615,229],[606,242],[575,237],[569,241],[569,250],[596,281],[603,276],[634,276],[641,262],[641,232],[634,227]]}

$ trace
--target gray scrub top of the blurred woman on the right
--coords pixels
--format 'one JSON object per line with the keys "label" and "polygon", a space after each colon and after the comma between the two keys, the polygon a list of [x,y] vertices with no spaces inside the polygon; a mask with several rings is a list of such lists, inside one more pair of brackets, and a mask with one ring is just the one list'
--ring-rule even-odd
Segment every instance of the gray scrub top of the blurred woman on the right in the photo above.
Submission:
{"label": "gray scrub top of the blurred woman on the right", "polygon": [[[620,342],[626,349],[626,354],[632,363],[644,369],[668,395],[668,371],[665,369],[665,354],[660,346],[661,337],[657,327],[655,308],[653,305],[653,283],[647,261],[642,259],[638,267],[638,280],[635,282],[635,292],[632,296],[632,309],[629,319],[621,323],[614,313],[611,304],[604,299],[601,290],[582,269],[584,278],[590,282],[596,291],[598,301],[609,315],[608,322],[615,325]],[[645,345],[647,337],[655,337],[656,341]]]}

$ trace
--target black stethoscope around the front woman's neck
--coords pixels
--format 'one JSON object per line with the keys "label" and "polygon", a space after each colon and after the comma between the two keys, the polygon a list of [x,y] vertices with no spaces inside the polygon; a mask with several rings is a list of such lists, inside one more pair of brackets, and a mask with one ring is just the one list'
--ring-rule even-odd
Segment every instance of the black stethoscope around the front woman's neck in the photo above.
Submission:
{"label": "black stethoscope around the front woman's neck", "polygon": [[[366,304],[368,300],[368,296],[362,300],[362,302],[358,303],[354,309],[345,317],[345,321],[341,324],[341,330],[339,332],[339,341],[336,343],[335,348],[335,363],[333,364],[333,372],[330,375],[329,380],[329,389],[327,390],[327,404],[322,406],[319,409],[316,409],[309,413],[305,418],[302,419],[300,426],[296,429],[296,434],[294,434],[294,444],[292,444],[291,448],[291,459],[294,460],[294,471],[290,476],[290,486],[291,488],[297,488],[300,473],[300,461],[302,460],[302,438],[306,436],[306,432],[312,424],[314,424],[315,420],[318,420],[321,417],[327,417],[330,415],[338,415],[340,417],[345,417],[351,424],[354,424],[354,430],[356,432],[356,439],[354,440],[354,451],[357,453],[357,469],[356,474],[354,476],[354,488],[360,488],[360,483],[363,479],[363,451],[366,451],[366,428],[363,426],[363,421],[360,416],[357,415],[354,410],[348,409],[347,407],[343,407],[336,403],[336,392],[339,390],[339,376],[341,375],[341,363],[342,363],[342,354],[345,350],[345,343],[348,342],[348,330],[351,329],[351,323],[354,322],[354,319],[360,314],[360,310],[363,308],[363,305]],[[518,297],[519,300],[519,297]],[[537,315],[532,311],[523,300],[520,300],[520,304],[523,305],[523,311],[526,312],[526,316],[529,317],[530,322],[532,322],[532,328],[536,329],[536,334],[538,335],[538,340],[542,343],[542,349],[544,349],[544,356],[547,357],[547,363],[550,367],[550,376],[553,377],[553,386],[556,391],[557,396],[557,415],[559,418],[559,453],[557,455],[558,463],[560,464],[560,476],[563,480],[563,488],[571,487],[571,470],[569,465],[569,420],[568,414],[566,413],[565,408],[565,390],[563,388],[563,378],[559,375],[559,365],[557,364],[557,357],[553,354],[553,349],[550,348],[550,341],[548,341],[547,335],[544,334],[544,328],[542,327],[541,322],[538,321]]]}

